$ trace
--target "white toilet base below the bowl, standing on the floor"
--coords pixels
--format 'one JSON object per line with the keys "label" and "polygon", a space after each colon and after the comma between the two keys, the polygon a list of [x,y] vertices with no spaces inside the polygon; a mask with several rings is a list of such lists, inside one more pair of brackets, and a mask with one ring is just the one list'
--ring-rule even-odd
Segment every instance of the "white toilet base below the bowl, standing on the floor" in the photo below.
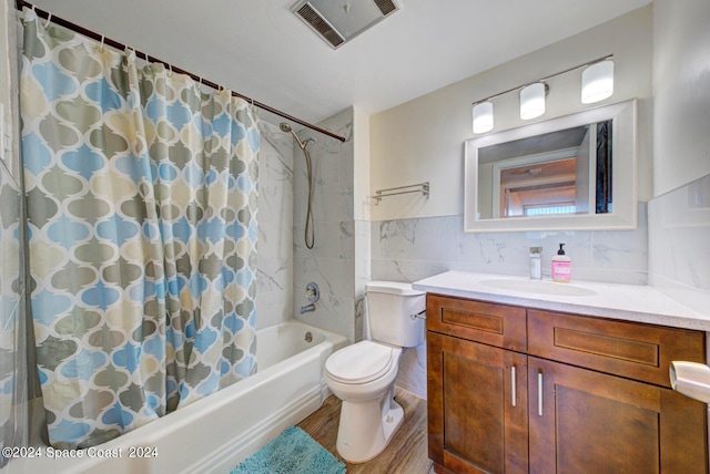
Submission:
{"label": "white toilet base below the bowl, standing on the floor", "polygon": [[338,454],[354,464],[372,460],[387,447],[403,420],[404,409],[390,395],[383,402],[344,401],[337,430]]}

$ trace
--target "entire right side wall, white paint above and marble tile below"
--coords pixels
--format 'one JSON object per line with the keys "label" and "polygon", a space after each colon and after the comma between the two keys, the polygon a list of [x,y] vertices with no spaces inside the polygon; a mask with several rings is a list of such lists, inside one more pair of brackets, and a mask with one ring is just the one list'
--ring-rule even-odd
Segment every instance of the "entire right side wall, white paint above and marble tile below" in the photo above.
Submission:
{"label": "entire right side wall, white paint above and marble tile below", "polygon": [[656,0],[649,281],[710,312],[710,2]]}

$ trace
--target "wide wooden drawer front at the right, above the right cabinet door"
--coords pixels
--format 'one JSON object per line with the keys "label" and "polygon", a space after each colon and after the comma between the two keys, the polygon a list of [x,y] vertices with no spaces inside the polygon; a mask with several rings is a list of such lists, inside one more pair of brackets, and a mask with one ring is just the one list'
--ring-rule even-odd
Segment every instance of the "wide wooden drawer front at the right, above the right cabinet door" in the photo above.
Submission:
{"label": "wide wooden drawer front at the right, above the right cabinet door", "polygon": [[670,387],[672,360],[706,360],[704,333],[638,322],[528,310],[528,353]]}

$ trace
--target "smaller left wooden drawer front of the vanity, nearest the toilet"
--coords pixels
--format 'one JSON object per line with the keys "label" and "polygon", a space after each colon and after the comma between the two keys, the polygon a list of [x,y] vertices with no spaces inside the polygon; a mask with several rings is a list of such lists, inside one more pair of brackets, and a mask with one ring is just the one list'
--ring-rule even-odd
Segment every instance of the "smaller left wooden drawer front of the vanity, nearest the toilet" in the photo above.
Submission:
{"label": "smaller left wooden drawer front of the vanity, nearest the toilet", "polygon": [[525,352],[526,310],[455,297],[428,293],[426,328],[469,341]]}

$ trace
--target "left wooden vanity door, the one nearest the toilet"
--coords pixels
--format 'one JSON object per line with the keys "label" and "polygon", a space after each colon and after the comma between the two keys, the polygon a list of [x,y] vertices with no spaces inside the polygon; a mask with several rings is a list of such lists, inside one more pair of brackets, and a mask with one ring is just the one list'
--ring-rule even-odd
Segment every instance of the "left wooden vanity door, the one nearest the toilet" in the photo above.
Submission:
{"label": "left wooden vanity door, the one nearest the toilet", "polygon": [[427,363],[437,472],[527,473],[527,357],[428,331]]}

